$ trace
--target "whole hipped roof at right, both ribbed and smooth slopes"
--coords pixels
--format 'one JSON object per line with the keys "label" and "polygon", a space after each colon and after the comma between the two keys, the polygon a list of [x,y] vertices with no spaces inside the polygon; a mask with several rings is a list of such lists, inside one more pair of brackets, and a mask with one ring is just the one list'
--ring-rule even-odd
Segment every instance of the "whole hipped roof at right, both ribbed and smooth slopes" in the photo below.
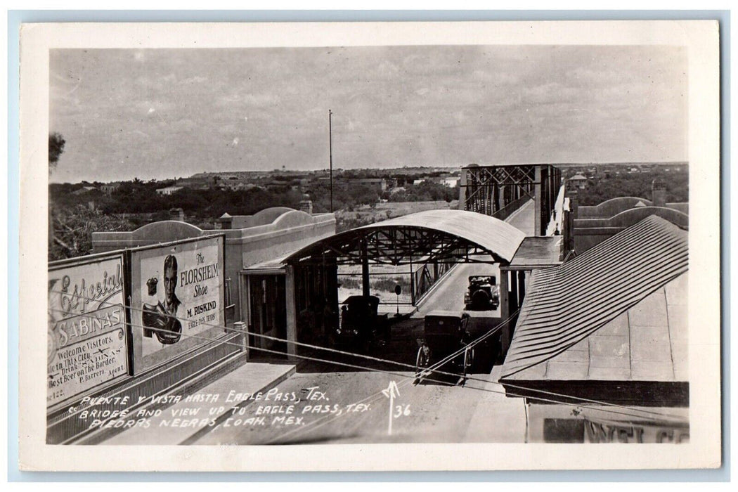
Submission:
{"label": "whole hipped roof at right, both ribbed and smooth slopes", "polygon": [[687,233],[651,215],[534,271],[503,378],[686,377]]}

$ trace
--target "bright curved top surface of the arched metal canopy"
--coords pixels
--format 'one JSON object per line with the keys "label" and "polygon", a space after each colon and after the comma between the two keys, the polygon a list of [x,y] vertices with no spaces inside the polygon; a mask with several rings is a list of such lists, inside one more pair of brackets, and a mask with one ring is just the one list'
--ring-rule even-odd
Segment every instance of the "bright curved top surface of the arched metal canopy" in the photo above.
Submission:
{"label": "bright curved top surface of the arched metal canopy", "polygon": [[382,229],[392,226],[422,227],[458,236],[495,252],[510,261],[525,234],[500,219],[467,210],[424,210],[358,229]]}

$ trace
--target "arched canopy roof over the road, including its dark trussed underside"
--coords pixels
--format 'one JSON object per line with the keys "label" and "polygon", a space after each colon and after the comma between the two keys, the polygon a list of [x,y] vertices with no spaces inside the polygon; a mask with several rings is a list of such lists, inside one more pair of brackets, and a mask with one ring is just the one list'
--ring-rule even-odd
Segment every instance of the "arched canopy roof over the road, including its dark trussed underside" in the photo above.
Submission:
{"label": "arched canopy roof over the road, including its dark trussed underside", "polygon": [[[331,256],[338,263],[402,265],[427,260],[467,260],[491,255],[509,263],[525,234],[497,218],[466,210],[426,210],[358,227],[319,240],[295,252],[286,263]],[[484,260],[482,260],[484,261]],[[489,261],[489,260],[487,260]]]}

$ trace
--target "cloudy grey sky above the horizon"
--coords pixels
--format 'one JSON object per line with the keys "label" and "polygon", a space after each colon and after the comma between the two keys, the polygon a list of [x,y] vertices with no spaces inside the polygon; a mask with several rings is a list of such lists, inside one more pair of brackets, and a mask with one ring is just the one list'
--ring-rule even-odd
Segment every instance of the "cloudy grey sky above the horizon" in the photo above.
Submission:
{"label": "cloudy grey sky above the horizon", "polygon": [[54,49],[52,182],[687,159],[675,46]]}

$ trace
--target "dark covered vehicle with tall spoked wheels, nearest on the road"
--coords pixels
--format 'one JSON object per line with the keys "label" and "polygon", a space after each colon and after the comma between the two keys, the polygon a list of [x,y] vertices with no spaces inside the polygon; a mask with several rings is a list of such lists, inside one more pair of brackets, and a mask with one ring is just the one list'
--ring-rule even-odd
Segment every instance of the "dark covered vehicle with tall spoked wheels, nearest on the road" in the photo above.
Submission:
{"label": "dark covered vehicle with tall spoked wheels, nearest on the road", "polygon": [[466,378],[474,365],[474,347],[469,345],[472,340],[468,324],[468,313],[431,311],[425,316],[424,338],[418,339],[420,347],[415,358],[416,382],[423,378],[445,379],[446,374],[433,375],[433,370],[458,373],[461,381]]}

